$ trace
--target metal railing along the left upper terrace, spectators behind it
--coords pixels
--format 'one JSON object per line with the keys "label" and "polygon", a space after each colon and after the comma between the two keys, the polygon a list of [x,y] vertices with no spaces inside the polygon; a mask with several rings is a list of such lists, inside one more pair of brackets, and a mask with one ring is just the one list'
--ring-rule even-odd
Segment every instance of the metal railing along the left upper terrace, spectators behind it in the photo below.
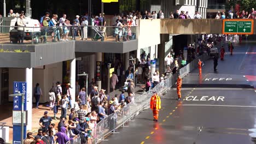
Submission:
{"label": "metal railing along the left upper terrace, spectators behind it", "polygon": [[129,41],[138,39],[138,26],[0,26],[0,29],[9,29],[9,39],[1,39],[0,43],[16,44],[21,39],[18,30],[24,31],[24,43],[38,44],[69,40],[89,41]]}

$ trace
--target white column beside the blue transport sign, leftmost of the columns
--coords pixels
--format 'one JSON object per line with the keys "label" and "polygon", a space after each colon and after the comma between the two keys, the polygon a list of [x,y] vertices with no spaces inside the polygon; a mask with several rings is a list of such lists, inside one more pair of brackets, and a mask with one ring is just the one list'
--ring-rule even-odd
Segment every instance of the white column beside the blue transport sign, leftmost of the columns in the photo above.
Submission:
{"label": "white column beside the blue transport sign, leftmost of the columns", "polygon": [[26,68],[26,82],[27,82],[27,130],[32,130],[32,96],[33,96],[33,68]]}

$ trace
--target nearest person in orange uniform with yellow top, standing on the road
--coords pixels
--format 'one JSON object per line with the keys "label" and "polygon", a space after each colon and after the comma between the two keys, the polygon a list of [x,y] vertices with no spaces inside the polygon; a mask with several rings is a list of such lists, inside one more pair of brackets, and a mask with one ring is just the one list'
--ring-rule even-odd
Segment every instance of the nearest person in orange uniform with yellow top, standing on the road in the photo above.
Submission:
{"label": "nearest person in orange uniform with yellow top, standing on the road", "polygon": [[150,99],[150,109],[153,110],[154,121],[158,121],[158,112],[161,109],[161,99],[156,92]]}

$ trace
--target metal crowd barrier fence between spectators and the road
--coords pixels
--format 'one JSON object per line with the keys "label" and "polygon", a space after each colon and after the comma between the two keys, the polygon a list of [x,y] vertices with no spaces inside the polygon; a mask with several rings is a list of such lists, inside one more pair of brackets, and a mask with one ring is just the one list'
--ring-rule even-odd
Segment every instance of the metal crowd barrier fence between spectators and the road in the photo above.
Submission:
{"label": "metal crowd barrier fence between spectators and the road", "polygon": [[[115,133],[115,129],[125,127],[125,123],[131,121],[131,119],[137,116],[139,112],[149,109],[150,98],[152,97],[153,92],[156,91],[159,95],[166,93],[168,89],[175,85],[178,74],[180,74],[181,77],[184,77],[188,75],[189,72],[194,68],[197,68],[199,58],[201,61],[207,61],[209,57],[207,54],[203,54],[195,58],[192,62],[185,65],[185,67],[179,69],[178,73],[169,76],[166,80],[161,81],[153,89],[150,89],[150,91],[137,96],[135,101],[124,105],[120,110],[118,110],[118,112],[112,113],[98,122],[94,130],[92,130],[92,143],[96,144],[103,141],[104,137]],[[81,142],[80,136],[78,139],[68,141],[67,144],[76,144],[78,141]]]}

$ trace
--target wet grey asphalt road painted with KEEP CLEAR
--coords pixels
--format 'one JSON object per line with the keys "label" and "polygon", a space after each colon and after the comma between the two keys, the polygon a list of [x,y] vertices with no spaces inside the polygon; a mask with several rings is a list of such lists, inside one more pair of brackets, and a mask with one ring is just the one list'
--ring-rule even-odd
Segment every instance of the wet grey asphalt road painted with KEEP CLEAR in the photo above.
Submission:
{"label": "wet grey asphalt road painted with KEEP CLEAR", "polygon": [[207,61],[201,81],[197,70],[185,77],[184,85],[191,87],[182,88],[181,101],[175,100],[176,89],[161,97],[159,122],[146,110],[102,143],[256,143],[255,79],[247,76],[256,75],[255,67],[249,68],[255,49],[235,45],[234,55],[226,53],[219,61],[217,73]]}

